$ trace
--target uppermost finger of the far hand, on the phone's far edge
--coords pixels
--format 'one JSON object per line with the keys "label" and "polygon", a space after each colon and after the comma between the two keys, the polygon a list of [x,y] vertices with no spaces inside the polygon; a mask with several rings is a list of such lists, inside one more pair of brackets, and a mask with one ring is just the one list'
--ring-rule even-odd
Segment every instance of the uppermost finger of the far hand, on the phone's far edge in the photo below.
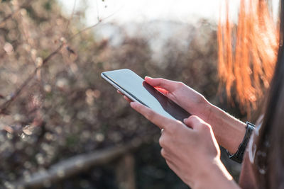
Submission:
{"label": "uppermost finger of the far hand, on the phone's far edge", "polygon": [[145,77],[145,81],[151,86],[158,86],[160,88],[164,88],[166,91],[173,92],[175,91],[175,84],[178,82],[170,81],[168,79],[163,78],[151,78],[149,76]]}

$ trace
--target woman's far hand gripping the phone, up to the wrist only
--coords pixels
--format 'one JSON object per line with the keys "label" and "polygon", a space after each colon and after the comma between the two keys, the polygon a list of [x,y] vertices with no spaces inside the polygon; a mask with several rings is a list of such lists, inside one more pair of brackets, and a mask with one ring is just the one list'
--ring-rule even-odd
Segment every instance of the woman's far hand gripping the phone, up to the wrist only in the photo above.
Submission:
{"label": "woman's far hand gripping the phone, up to the wrist only", "polygon": [[153,79],[148,76],[145,77],[145,81],[187,110],[188,113],[197,115],[207,122],[210,103],[202,94],[179,81],[170,81],[163,78]]}

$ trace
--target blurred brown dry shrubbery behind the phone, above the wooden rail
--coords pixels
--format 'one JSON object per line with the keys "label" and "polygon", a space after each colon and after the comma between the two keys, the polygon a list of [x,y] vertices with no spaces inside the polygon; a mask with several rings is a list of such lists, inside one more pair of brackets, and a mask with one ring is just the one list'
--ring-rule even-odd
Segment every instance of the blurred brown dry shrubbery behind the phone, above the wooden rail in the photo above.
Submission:
{"label": "blurred brown dry shrubbery behind the phone, above the wooden rail", "polygon": [[125,35],[119,47],[97,41],[92,30],[74,37],[84,28],[80,14],[68,21],[60,12],[55,1],[1,1],[0,184],[6,187],[62,159],[159,136],[101,79],[102,71],[129,68],[216,95],[215,25],[190,25],[188,45],[168,40],[160,63],[152,59],[151,36]]}

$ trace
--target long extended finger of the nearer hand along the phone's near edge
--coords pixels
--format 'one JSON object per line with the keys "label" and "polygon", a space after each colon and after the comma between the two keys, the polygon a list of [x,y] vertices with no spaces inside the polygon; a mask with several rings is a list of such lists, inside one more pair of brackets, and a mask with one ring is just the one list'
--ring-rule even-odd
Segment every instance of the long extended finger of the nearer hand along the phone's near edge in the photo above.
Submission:
{"label": "long extended finger of the nearer hand along the phone's near edge", "polygon": [[168,130],[169,125],[175,125],[176,123],[175,120],[165,118],[163,115],[155,113],[153,110],[141,103],[132,102],[130,105],[131,108],[136,110],[138,113],[141,113],[146,119],[153,122],[153,124],[157,125],[160,129]]}

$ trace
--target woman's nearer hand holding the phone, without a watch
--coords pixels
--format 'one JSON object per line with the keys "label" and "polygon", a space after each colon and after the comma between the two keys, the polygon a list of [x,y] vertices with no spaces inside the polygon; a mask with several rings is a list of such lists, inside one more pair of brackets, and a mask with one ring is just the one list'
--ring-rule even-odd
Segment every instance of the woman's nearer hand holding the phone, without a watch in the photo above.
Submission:
{"label": "woman's nearer hand holding the phone, without a watch", "polygon": [[209,124],[195,115],[182,122],[165,118],[140,103],[131,107],[163,129],[159,140],[168,166],[192,188],[232,188],[236,183],[220,161]]}

